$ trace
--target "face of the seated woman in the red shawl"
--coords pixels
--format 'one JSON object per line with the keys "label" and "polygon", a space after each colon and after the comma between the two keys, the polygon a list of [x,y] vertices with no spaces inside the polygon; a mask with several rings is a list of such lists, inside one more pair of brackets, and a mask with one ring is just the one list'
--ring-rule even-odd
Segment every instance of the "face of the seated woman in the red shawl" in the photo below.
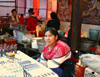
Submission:
{"label": "face of the seated woman in the red shawl", "polygon": [[53,35],[50,31],[45,33],[45,42],[47,45],[53,47],[57,41],[58,35]]}

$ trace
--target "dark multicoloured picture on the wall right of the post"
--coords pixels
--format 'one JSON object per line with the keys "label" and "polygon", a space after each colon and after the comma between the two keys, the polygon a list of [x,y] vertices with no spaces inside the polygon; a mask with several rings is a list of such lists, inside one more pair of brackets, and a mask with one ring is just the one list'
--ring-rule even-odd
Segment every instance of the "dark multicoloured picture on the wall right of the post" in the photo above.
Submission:
{"label": "dark multicoloured picture on the wall right of the post", "polygon": [[83,23],[100,25],[100,0],[83,1]]}

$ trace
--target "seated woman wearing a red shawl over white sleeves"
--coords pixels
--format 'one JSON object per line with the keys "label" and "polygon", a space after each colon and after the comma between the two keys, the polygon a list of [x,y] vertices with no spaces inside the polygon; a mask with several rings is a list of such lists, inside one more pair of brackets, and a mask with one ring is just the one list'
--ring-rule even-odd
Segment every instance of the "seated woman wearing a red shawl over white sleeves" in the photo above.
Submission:
{"label": "seated woman wearing a red shawl over white sleeves", "polygon": [[70,47],[60,40],[59,34],[54,28],[47,28],[45,30],[44,39],[46,46],[41,54],[40,63],[51,68],[61,77],[63,70],[60,68],[60,65],[72,57]]}

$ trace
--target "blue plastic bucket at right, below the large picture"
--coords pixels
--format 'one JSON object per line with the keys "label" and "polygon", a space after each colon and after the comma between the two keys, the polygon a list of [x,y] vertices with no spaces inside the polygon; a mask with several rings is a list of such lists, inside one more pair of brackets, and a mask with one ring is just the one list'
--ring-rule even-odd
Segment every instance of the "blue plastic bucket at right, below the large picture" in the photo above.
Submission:
{"label": "blue plastic bucket at right, below the large picture", "polygon": [[97,40],[99,36],[99,30],[97,29],[89,29],[89,38],[91,40]]}

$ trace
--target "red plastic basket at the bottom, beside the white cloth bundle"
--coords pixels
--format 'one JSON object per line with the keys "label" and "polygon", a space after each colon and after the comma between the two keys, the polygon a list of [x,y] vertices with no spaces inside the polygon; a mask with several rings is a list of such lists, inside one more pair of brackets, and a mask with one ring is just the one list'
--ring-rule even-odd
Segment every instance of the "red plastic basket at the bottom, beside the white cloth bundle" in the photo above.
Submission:
{"label": "red plastic basket at the bottom, beside the white cloth bundle", "polygon": [[84,71],[86,67],[75,65],[75,77],[84,77]]}

